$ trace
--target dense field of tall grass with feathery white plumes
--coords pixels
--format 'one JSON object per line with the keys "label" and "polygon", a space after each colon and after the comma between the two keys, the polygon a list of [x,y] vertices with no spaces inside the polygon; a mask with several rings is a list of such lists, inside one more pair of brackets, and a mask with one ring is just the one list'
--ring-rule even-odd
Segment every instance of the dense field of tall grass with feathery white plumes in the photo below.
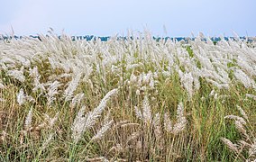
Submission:
{"label": "dense field of tall grass with feathery white plumes", "polygon": [[255,161],[256,43],[130,36],[0,40],[0,161]]}

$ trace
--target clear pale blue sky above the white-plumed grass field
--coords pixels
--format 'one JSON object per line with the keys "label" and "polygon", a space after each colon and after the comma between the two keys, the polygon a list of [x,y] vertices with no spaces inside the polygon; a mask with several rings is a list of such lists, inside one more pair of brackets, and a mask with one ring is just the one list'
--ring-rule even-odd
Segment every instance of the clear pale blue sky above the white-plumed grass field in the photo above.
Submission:
{"label": "clear pale blue sky above the white-plumed grass field", "polygon": [[[0,0],[0,34],[256,36],[256,0]],[[12,27],[11,27],[12,26]],[[164,27],[167,34],[164,30]]]}

